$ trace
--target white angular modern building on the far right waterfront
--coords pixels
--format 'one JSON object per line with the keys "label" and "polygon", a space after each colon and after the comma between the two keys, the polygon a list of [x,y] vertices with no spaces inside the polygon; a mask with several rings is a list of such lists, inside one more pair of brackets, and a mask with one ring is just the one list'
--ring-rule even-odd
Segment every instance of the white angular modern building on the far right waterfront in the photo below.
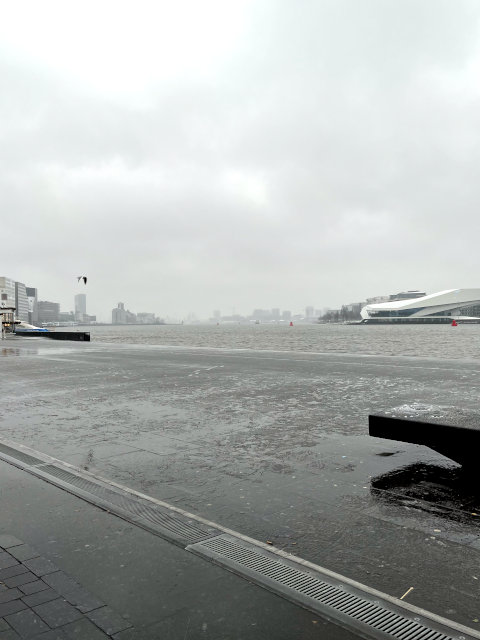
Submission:
{"label": "white angular modern building on the far right waterfront", "polygon": [[447,289],[410,299],[367,304],[360,312],[365,324],[479,322],[480,289]]}

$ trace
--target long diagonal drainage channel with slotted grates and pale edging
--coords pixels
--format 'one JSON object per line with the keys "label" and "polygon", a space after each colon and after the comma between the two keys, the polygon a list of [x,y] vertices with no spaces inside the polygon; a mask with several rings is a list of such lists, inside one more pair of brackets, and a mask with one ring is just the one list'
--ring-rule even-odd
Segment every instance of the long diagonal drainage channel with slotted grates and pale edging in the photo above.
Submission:
{"label": "long diagonal drainage channel with slotted grates and pale edging", "polygon": [[372,640],[473,640],[480,633],[290,556],[221,525],[99,478],[23,445],[0,459],[186,551]]}

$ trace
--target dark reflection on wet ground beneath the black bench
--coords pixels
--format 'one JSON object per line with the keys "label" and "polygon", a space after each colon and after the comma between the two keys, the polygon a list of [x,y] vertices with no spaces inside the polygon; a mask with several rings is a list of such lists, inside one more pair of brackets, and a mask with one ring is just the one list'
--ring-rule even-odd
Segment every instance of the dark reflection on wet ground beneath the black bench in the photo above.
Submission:
{"label": "dark reflection on wet ground beneath the black bench", "polygon": [[387,504],[441,515],[480,528],[478,477],[461,467],[415,463],[371,480],[371,494]]}

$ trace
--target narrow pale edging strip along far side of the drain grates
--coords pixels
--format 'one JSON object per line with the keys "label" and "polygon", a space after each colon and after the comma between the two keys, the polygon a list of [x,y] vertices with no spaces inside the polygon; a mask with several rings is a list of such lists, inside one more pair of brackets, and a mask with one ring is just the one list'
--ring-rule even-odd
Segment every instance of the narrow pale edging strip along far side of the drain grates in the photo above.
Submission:
{"label": "narrow pale edging strip along far side of the drain grates", "polygon": [[[40,451],[37,451],[35,449],[32,449],[26,445],[20,444],[20,443],[16,443],[12,440],[3,440],[0,439],[0,445],[6,445],[12,449],[16,449],[18,450],[20,453],[26,453],[32,457],[37,457],[39,459],[43,459],[44,462],[38,464],[38,465],[30,465],[28,463],[25,463],[24,461],[20,460],[20,459],[15,459],[10,455],[4,454],[3,452],[0,451],[0,459],[3,459],[5,462],[13,464],[14,466],[24,470],[24,471],[29,471],[29,469],[38,469],[39,467],[42,467],[44,465],[47,464],[53,464],[53,465],[57,465],[60,466],[60,468],[64,468],[66,470],[69,470],[71,472],[73,472],[73,475],[79,476],[79,477],[83,477],[86,479],[91,479],[92,481],[95,481],[97,484],[100,484],[100,486],[106,485],[111,486],[111,487],[115,487],[117,489],[120,489],[121,491],[130,494],[132,496],[136,496],[138,498],[141,498],[142,500],[146,500],[148,502],[151,502],[152,504],[158,505],[160,507],[163,507],[165,509],[168,509],[169,511],[178,513],[190,520],[195,520],[196,522],[200,523],[200,524],[204,524],[208,527],[212,527],[215,528],[219,531],[221,531],[224,534],[227,534],[229,536],[234,537],[237,540],[242,540],[244,542],[246,542],[248,545],[253,545],[254,547],[258,547],[260,549],[263,549],[264,551],[268,552],[268,554],[272,554],[275,556],[278,556],[280,558],[283,558],[285,560],[288,560],[289,563],[295,563],[296,565],[300,565],[302,567],[304,567],[305,569],[310,569],[313,570],[319,574],[323,574],[324,576],[327,576],[328,578],[344,583],[346,585],[349,585],[351,587],[353,587],[354,589],[357,589],[359,591],[362,591],[366,594],[368,594],[369,596],[372,596],[374,598],[380,598],[383,601],[394,605],[397,608],[400,609],[404,609],[405,611],[408,611],[410,614],[415,615],[415,616],[422,616],[436,624],[440,624],[446,627],[450,627],[451,629],[454,629],[455,631],[458,631],[459,633],[466,633],[467,635],[470,635],[473,638],[478,638],[480,639],[480,632],[476,631],[475,629],[472,629],[471,627],[466,627],[465,625],[462,625],[460,623],[457,623],[453,620],[449,620],[447,618],[444,618],[442,616],[439,616],[435,613],[432,613],[430,611],[427,611],[426,609],[422,609],[421,607],[417,607],[415,605],[412,605],[408,602],[405,602],[404,600],[400,600],[399,598],[395,598],[387,593],[384,593],[382,591],[379,591],[377,589],[374,589],[372,587],[369,587],[367,585],[364,585],[356,580],[352,580],[351,578],[348,578],[347,576],[344,576],[342,574],[336,573],[334,571],[331,571],[330,569],[327,569],[325,567],[322,567],[320,565],[317,565],[313,562],[310,562],[309,560],[305,560],[303,558],[300,558],[299,556],[295,556],[294,554],[290,554],[287,553],[281,549],[276,548],[273,545],[267,545],[266,543],[260,541],[260,540],[256,540],[255,538],[251,538],[250,536],[244,535],[238,531],[235,531],[233,529],[229,529],[228,527],[224,527],[221,524],[215,523],[211,520],[208,520],[206,518],[203,518],[202,516],[196,515],[196,514],[192,514],[188,511],[185,511],[184,509],[181,509],[180,507],[176,507],[174,505],[171,505],[167,502],[164,502],[162,500],[158,500],[157,498],[154,498],[152,496],[149,496],[147,494],[141,493],[139,491],[136,491],[135,489],[132,489],[130,487],[127,487],[125,485],[119,484],[117,482],[114,482],[112,480],[109,480],[107,478],[104,478],[102,476],[96,475],[94,473],[91,473],[90,471],[87,471],[85,469],[81,469],[80,467],[76,467],[75,465],[72,465],[68,462],[64,462],[63,460],[59,460],[58,458],[54,458],[52,456],[49,456],[48,454],[42,453]],[[39,471],[41,471],[41,468],[39,469]],[[35,475],[35,474],[34,474]],[[41,479],[47,480],[47,478],[45,478],[44,476],[36,476],[39,477]],[[59,486],[56,483],[52,483],[55,486]],[[64,488],[64,487],[59,487],[59,488]],[[75,493],[74,491],[71,491],[71,493],[73,495],[78,495],[78,497],[82,498],[82,495]],[[84,492],[82,492],[84,494]],[[84,498],[85,499],[85,498]],[[95,504],[95,503],[93,503]],[[98,505],[96,505],[98,506]],[[107,510],[103,507],[99,507],[102,508],[103,510]],[[108,511],[108,510],[107,510]],[[111,513],[111,512],[110,512]],[[117,515],[115,513],[113,513],[113,515]],[[121,515],[119,517],[122,517]],[[127,518],[123,517],[123,519],[127,520]],[[129,522],[131,522],[134,525],[138,525],[137,522],[135,521],[131,521],[128,520]],[[148,529],[147,529],[148,530]],[[170,540],[171,541],[171,540]],[[189,549],[187,549],[188,546],[193,546],[193,544],[189,544],[186,546],[183,546],[183,548],[186,551],[189,551]]]}

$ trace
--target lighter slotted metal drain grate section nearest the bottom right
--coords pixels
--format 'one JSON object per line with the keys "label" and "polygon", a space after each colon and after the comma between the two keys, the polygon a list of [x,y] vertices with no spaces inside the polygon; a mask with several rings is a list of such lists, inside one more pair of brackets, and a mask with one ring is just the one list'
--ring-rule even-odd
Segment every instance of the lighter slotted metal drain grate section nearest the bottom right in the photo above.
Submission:
{"label": "lighter slotted metal drain grate section nearest the bottom right", "polygon": [[[288,560],[277,559],[260,547],[222,535],[187,547],[188,551],[213,560],[251,581],[275,591],[289,600],[333,619],[367,638],[397,638],[398,640],[452,640],[445,630],[432,628],[420,618],[408,618],[392,605],[382,606],[367,600],[353,587],[328,581],[327,576],[315,576],[302,571]],[[327,580],[325,580],[325,577]],[[428,626],[426,626],[428,625]],[[466,636],[457,636],[459,638]]]}

